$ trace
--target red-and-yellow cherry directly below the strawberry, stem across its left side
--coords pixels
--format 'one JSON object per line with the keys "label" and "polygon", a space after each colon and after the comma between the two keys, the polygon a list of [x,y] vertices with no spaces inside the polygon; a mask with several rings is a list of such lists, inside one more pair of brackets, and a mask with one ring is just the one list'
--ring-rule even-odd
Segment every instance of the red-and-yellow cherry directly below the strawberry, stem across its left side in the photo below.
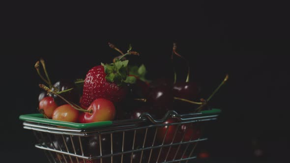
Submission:
{"label": "red-and-yellow cherry directly below the strawberry, stem across its left side", "polygon": [[92,110],[92,112],[85,113],[84,119],[86,123],[112,121],[114,120],[116,114],[114,104],[103,98],[95,99],[87,110]]}

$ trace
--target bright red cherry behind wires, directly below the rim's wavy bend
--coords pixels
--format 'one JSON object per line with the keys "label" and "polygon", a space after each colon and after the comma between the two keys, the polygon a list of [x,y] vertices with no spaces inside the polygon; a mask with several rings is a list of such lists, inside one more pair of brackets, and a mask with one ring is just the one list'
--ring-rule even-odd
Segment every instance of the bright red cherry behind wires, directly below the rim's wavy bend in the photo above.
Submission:
{"label": "bright red cherry behind wires, directly below the rim's wavy bend", "polygon": [[[176,118],[169,118],[167,121],[164,122],[164,124],[170,124],[170,123],[176,123],[177,119]],[[168,132],[166,134],[166,130],[168,128]],[[157,139],[162,142],[164,139],[164,143],[168,144],[171,143],[173,141],[174,138],[174,134],[175,131],[177,130],[177,126],[176,125],[169,125],[169,126],[163,126],[161,128],[158,128],[157,130]],[[165,136],[166,134],[166,136]],[[177,131],[175,138],[174,138],[174,142],[180,140],[181,138],[180,133]]]}

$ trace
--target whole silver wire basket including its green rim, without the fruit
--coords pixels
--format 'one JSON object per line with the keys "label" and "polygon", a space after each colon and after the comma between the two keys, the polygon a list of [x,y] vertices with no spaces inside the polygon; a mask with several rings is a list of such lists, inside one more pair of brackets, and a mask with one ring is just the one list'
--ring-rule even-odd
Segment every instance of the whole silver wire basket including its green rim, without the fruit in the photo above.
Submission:
{"label": "whole silver wire basket including its green rim, without the fruit", "polygon": [[[136,120],[87,124],[45,119],[41,114],[21,115],[20,119],[25,129],[33,131],[39,142],[35,147],[44,149],[50,163],[187,163],[196,158],[198,142],[207,138],[191,135],[185,140],[185,134],[177,131],[183,124],[203,129],[206,121],[215,120],[219,113],[219,109],[182,115],[168,111],[160,120],[143,114]],[[171,117],[178,122],[163,123]],[[172,140],[165,141],[169,127],[160,140],[161,127],[172,125]]]}

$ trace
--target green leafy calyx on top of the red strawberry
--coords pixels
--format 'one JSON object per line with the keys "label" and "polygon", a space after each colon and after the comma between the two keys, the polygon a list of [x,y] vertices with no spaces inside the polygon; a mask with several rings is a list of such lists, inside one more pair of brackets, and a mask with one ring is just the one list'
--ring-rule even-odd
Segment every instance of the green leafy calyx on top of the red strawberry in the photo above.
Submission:
{"label": "green leafy calyx on top of the red strawberry", "polygon": [[106,80],[109,82],[114,82],[118,86],[123,83],[135,83],[136,78],[127,76],[127,66],[129,60],[116,60],[115,63],[102,64],[106,73]]}

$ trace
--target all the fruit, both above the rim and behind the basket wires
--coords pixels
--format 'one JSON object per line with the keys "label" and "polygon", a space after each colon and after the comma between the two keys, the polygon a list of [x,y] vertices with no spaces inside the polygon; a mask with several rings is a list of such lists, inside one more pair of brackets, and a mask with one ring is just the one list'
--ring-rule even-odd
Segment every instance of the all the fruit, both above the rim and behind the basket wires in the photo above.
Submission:
{"label": "all the fruit, both above the rim and behind the basket wires", "polygon": [[[213,93],[207,99],[203,99],[200,97],[201,90],[199,85],[196,82],[189,81],[189,63],[176,52],[176,44],[173,46],[171,58],[174,59],[174,56],[177,56],[177,58],[184,59],[188,67],[187,77],[183,82],[176,81],[175,71],[173,71],[172,80],[161,78],[149,81],[145,78],[146,68],[144,64],[138,66],[129,64],[128,58],[131,55],[138,56],[139,53],[132,51],[131,46],[129,46],[125,54],[113,44],[109,43],[109,46],[121,55],[115,57],[113,63],[101,63],[92,67],[87,72],[85,79],[60,79],[53,84],[49,78],[45,61],[40,59],[36,62],[34,67],[45,83],[39,84],[42,92],[38,97],[38,111],[45,118],[74,123],[91,123],[138,119],[143,113],[149,113],[153,118],[161,119],[169,110],[175,110],[181,114],[199,112],[202,109],[211,109],[208,105],[209,101],[228,80],[227,75]],[[42,75],[43,73],[40,70],[45,75]],[[122,146],[122,141],[126,142],[124,151],[132,150],[131,140],[133,139],[137,149],[142,146],[152,146],[152,137],[147,138],[146,143],[143,144],[144,135],[148,137],[156,135],[156,143],[160,144],[186,142],[200,138],[201,130],[196,124],[184,123],[177,126],[174,125],[176,123],[178,123],[177,118],[169,118],[164,122],[164,124],[168,125],[158,127],[156,133],[153,128],[149,128],[146,134],[144,130],[135,131],[136,140],[132,137],[135,134],[130,133],[132,131],[128,131],[128,134],[126,133],[125,140],[119,140],[122,136],[118,135],[119,133],[115,133],[113,136],[114,140],[116,140],[114,141],[114,148],[116,149],[114,150],[119,150],[119,152],[122,150],[122,148],[118,149]],[[98,143],[101,142],[104,146],[102,154],[110,154],[111,149],[106,149],[105,147],[111,147],[108,143],[110,143],[109,140],[112,137],[102,135],[100,140],[99,138],[99,136],[89,137],[87,142],[84,142],[86,148],[83,149],[90,155],[98,156],[100,151],[96,149],[99,149]],[[59,141],[53,141],[53,143],[49,143],[49,147],[61,149],[64,144],[59,144]],[[127,160],[127,163],[130,160],[139,162],[141,158],[145,160],[168,158],[168,161],[175,158],[180,159],[181,157],[187,158],[185,153],[178,150],[179,147],[164,147],[162,151],[151,151],[151,158],[145,157],[149,155],[144,154],[141,157],[142,155],[134,153],[134,155],[130,154],[130,156],[125,155],[124,160]]]}

